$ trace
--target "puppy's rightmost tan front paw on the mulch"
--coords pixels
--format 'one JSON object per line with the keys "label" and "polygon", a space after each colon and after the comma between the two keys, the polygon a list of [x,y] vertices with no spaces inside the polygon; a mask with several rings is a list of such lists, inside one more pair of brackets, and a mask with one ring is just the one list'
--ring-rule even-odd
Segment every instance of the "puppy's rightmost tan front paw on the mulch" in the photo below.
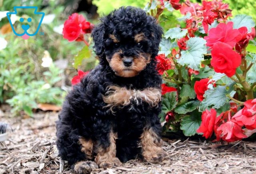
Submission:
{"label": "puppy's rightmost tan front paw on the mulch", "polygon": [[157,147],[155,150],[143,152],[142,155],[146,162],[159,163],[162,162],[168,154],[162,148]]}

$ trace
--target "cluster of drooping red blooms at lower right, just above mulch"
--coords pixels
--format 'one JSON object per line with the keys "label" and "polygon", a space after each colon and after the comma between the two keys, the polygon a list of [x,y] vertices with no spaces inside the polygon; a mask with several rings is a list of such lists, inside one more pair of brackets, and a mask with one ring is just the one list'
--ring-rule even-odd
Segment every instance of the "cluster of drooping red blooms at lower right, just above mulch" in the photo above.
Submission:
{"label": "cluster of drooping red blooms at lower right, just above mulch", "polygon": [[242,127],[245,126],[249,130],[256,129],[256,99],[247,100],[244,103],[244,108],[231,116],[236,110],[237,105],[231,103],[231,109],[222,112],[219,116],[216,116],[215,109],[204,111],[202,124],[197,132],[203,133],[205,138],[210,138],[214,132],[217,141],[234,142],[247,138]]}

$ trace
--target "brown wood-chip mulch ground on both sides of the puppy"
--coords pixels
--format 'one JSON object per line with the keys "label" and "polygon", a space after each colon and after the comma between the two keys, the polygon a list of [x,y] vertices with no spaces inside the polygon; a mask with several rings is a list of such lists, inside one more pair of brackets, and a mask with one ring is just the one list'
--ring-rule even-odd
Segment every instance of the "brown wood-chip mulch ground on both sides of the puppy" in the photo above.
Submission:
{"label": "brown wood-chip mulch ground on both sides of the puppy", "polygon": [[[0,174],[2,173],[73,173],[58,157],[55,145],[56,112],[39,112],[34,118],[0,115],[14,132],[0,144]],[[165,173],[255,173],[256,142],[239,141],[232,144],[213,144],[200,140],[166,140],[163,148],[168,160],[150,164],[141,159],[130,160],[119,167],[97,169],[100,174],[165,174]]]}

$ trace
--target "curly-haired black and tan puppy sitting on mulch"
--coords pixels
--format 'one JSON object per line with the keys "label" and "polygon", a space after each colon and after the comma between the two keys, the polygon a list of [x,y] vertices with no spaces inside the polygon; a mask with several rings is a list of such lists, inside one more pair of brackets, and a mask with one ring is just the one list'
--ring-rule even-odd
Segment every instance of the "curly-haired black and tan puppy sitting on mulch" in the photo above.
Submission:
{"label": "curly-haired black and tan puppy sitting on mulch", "polygon": [[57,147],[76,172],[106,168],[142,154],[166,156],[161,144],[161,77],[155,56],[162,28],[139,8],[122,7],[93,32],[96,66],[66,97],[57,121]]}

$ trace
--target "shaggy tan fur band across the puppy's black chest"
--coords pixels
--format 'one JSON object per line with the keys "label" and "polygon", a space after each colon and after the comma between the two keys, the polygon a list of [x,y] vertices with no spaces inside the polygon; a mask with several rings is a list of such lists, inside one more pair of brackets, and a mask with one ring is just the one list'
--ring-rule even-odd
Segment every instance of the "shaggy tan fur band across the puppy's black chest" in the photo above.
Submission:
{"label": "shaggy tan fur band across the puppy's black chest", "polygon": [[114,107],[149,104],[151,107],[157,106],[161,101],[161,90],[159,88],[145,88],[143,90],[129,89],[126,87],[109,86],[103,96],[104,102],[111,110]]}

